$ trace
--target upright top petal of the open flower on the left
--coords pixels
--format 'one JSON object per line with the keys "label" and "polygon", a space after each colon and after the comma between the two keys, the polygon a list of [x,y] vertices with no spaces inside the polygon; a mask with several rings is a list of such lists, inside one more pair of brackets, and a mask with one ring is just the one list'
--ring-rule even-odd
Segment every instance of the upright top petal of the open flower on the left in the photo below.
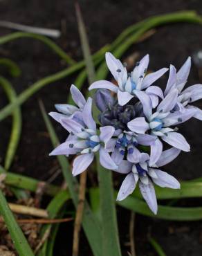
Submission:
{"label": "upright top petal of the open flower on the left", "polygon": [[92,116],[92,99],[89,97],[82,112],[83,120],[89,129],[96,130],[96,123]]}

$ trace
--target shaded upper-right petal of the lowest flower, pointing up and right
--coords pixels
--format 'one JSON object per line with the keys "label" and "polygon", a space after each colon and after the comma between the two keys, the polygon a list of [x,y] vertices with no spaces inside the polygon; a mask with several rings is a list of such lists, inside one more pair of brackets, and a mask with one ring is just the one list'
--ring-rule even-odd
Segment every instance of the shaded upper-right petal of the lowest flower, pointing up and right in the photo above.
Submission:
{"label": "shaded upper-right petal of the lowest flower, pointing up and right", "polygon": [[167,163],[172,162],[179,154],[181,150],[176,149],[176,147],[172,147],[162,152],[160,158],[156,162],[156,166],[160,167],[163,165],[167,165]]}

